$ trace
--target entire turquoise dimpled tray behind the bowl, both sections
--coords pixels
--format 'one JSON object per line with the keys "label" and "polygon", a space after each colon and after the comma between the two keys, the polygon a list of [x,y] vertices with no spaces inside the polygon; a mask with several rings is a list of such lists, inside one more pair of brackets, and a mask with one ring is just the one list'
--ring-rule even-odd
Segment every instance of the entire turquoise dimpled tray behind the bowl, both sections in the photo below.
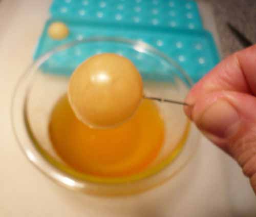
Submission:
{"label": "entire turquoise dimpled tray behind the bowl, both sections", "polygon": [[[219,61],[214,40],[204,31],[194,0],[53,0],[50,13],[52,19],[41,35],[34,59],[68,41],[101,35],[147,42],[180,64],[195,82]],[[59,41],[47,34],[48,26],[56,19],[66,20],[70,30],[69,36]],[[47,72],[69,75],[84,59],[104,52],[131,59],[151,79],[164,78],[168,73],[159,72],[153,64],[145,66],[142,50],[134,53],[116,45],[84,48],[80,44],[53,55],[42,67]],[[158,74],[152,75],[152,71]]]}

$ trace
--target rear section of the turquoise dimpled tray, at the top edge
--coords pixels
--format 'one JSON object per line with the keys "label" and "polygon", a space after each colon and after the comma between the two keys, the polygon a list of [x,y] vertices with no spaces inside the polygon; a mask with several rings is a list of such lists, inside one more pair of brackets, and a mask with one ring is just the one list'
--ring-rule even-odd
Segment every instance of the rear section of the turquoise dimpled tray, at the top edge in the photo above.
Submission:
{"label": "rear section of the turquoise dimpled tray, at the top edge", "polygon": [[65,19],[203,28],[197,4],[192,0],[54,0],[50,12],[53,17]]}

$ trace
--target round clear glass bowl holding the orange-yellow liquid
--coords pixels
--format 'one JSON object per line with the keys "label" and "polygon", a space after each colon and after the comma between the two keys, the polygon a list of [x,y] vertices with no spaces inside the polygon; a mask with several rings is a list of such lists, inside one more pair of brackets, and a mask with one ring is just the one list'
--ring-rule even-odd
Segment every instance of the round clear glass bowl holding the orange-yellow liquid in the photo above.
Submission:
{"label": "round clear glass bowl holding the orange-yellow liquid", "polygon": [[183,101],[192,85],[175,61],[144,42],[115,37],[70,42],[38,58],[19,79],[12,102],[14,135],[28,159],[46,176],[67,188],[121,195],[161,185],[177,175],[198,146],[199,133],[180,105],[156,102],[165,122],[164,144],[146,170],[130,177],[86,175],[63,162],[52,147],[48,124],[53,106],[66,93],[69,76],[80,60],[101,52],[118,53],[131,59],[143,77],[146,96]]}

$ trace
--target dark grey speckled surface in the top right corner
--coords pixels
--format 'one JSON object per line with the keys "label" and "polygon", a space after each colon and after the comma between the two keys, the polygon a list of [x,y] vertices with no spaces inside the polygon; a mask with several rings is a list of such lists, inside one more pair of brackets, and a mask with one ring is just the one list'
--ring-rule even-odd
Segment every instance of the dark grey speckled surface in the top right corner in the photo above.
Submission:
{"label": "dark grey speckled surface in the top right corner", "polygon": [[253,43],[256,43],[256,0],[199,0],[214,8],[215,19],[221,40],[223,57],[242,49],[239,41],[226,26],[228,21]]}

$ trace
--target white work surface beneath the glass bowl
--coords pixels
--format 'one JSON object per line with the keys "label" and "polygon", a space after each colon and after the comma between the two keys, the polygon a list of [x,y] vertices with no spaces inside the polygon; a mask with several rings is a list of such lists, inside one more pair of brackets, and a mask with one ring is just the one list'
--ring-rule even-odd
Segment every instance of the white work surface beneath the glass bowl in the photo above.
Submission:
{"label": "white work surface beneath the glass bowl", "polygon": [[179,176],[127,198],[96,198],[66,190],[28,162],[12,134],[11,95],[32,60],[49,4],[0,2],[0,216],[256,216],[256,200],[241,169],[205,139]]}

